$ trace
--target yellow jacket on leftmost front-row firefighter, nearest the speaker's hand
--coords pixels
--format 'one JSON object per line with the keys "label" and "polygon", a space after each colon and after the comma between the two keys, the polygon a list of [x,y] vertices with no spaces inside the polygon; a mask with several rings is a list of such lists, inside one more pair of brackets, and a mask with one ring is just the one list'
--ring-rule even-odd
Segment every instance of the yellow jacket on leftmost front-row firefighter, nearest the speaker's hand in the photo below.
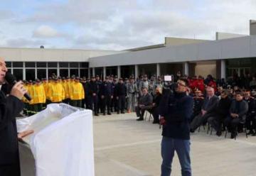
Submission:
{"label": "yellow jacket on leftmost front-row firefighter, nearest the speaker's hand", "polygon": [[42,84],[33,86],[33,104],[44,104],[46,103],[46,92]]}

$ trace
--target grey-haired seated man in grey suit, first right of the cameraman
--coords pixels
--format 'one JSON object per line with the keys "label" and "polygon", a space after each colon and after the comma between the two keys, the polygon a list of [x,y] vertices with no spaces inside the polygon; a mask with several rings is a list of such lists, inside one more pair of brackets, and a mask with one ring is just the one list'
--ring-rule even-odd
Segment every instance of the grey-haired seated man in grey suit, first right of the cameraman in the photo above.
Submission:
{"label": "grey-haired seated man in grey suit, first right of the cameraman", "polygon": [[207,123],[208,118],[214,115],[214,111],[218,103],[218,97],[215,96],[213,87],[207,87],[206,92],[207,97],[203,101],[201,113],[198,114],[198,116],[196,116],[191,122],[192,133],[196,131],[196,128]]}

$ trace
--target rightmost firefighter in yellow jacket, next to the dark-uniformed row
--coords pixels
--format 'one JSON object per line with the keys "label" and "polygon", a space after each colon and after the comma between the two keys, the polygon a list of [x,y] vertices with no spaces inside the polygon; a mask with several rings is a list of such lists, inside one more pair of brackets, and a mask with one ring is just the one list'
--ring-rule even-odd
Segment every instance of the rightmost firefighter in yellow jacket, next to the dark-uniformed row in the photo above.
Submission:
{"label": "rightmost firefighter in yellow jacket, next to the dark-uniformed row", "polygon": [[85,91],[79,80],[79,77],[76,77],[75,82],[71,84],[70,104],[72,106],[82,107],[82,99],[85,98]]}

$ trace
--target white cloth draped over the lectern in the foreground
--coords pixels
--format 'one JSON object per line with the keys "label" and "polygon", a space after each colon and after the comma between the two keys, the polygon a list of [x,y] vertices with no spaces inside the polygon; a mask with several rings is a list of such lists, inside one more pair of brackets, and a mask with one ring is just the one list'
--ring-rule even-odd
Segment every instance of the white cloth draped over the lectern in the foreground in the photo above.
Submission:
{"label": "white cloth draped over the lectern in the foreground", "polygon": [[20,143],[21,175],[95,175],[92,111],[49,104],[38,114],[18,119],[17,128],[35,131]]}

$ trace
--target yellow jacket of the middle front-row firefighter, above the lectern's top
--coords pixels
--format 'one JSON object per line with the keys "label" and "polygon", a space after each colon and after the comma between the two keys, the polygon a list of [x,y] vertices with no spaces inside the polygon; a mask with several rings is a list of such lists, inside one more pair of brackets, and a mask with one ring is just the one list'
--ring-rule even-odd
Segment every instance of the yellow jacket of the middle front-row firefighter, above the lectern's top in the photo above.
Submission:
{"label": "yellow jacket of the middle front-row firefighter, above the lectern's top", "polygon": [[62,84],[55,82],[50,84],[48,87],[48,96],[53,103],[63,101],[65,99],[65,91]]}

